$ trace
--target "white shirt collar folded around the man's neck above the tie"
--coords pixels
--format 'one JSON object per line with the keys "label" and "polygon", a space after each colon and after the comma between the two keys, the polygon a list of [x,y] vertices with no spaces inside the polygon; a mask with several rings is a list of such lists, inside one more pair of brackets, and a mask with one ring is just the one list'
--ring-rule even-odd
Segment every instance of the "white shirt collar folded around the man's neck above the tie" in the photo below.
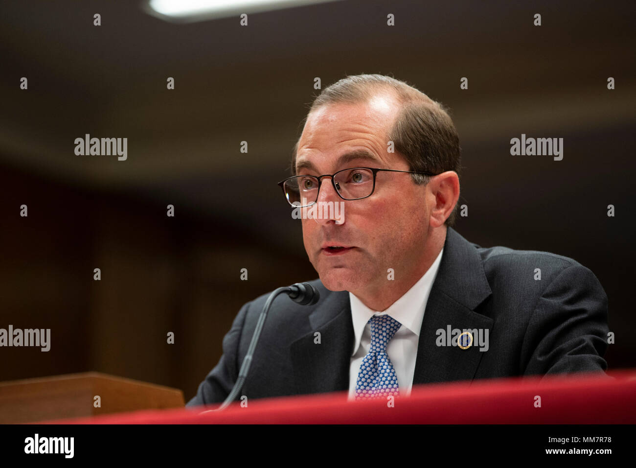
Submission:
{"label": "white shirt collar folded around the man's neck above the tie", "polygon": [[364,326],[369,322],[369,319],[373,315],[390,315],[397,320],[411,332],[420,336],[420,329],[422,328],[422,320],[424,320],[424,309],[426,302],[428,301],[429,294],[431,292],[433,281],[439,269],[439,262],[441,261],[441,255],[444,249],[439,252],[439,255],[432,263],[431,267],[424,273],[424,276],[420,278],[417,283],[406,291],[402,297],[393,302],[389,308],[385,311],[374,311],[363,304],[356,295],[349,292],[349,302],[351,305],[351,318],[354,325],[354,334],[356,336],[356,343],[354,346],[354,352],[356,354],[357,349],[360,346],[360,340],[364,331]]}

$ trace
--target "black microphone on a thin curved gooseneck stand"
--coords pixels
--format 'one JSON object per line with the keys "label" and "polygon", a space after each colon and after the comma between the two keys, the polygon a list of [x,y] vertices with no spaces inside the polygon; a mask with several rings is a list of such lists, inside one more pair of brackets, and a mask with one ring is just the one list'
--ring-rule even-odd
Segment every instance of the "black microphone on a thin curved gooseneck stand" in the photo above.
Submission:
{"label": "black microphone on a thin curved gooseneck stand", "polygon": [[[252,341],[249,342],[247,354],[245,354],[243,364],[241,364],[240,366],[239,377],[232,387],[232,391],[225,399],[223,404],[219,406],[219,408],[211,409],[209,411],[221,411],[221,409],[225,409],[230,403],[234,401],[237,395],[239,395],[239,392],[243,388],[243,384],[245,383],[245,379],[247,378],[249,366],[252,364],[252,356],[254,355],[254,349],[256,348],[258,337],[261,335],[261,330],[263,330],[265,317],[267,316],[270,307],[272,307],[272,302],[279,294],[287,294],[289,296],[289,299],[300,304],[301,306],[313,306],[320,299],[320,293],[318,292],[318,290],[309,283],[294,283],[291,286],[273,290],[272,294],[270,294],[270,297],[268,297],[267,301],[265,301],[263,311],[261,311],[261,315],[258,317],[258,322],[256,323],[254,334],[252,334]],[[207,413],[207,411],[205,411],[205,413]]]}

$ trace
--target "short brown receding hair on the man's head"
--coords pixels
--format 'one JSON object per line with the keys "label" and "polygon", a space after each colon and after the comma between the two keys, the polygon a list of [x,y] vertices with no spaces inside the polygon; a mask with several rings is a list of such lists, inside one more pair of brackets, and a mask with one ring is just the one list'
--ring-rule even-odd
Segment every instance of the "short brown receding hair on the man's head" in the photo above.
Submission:
{"label": "short brown receding hair on the man's head", "polygon": [[[435,174],[445,171],[460,173],[459,136],[448,110],[433,101],[423,92],[406,82],[382,74],[358,74],[347,76],[322,90],[307,113],[326,104],[366,102],[377,92],[391,90],[402,106],[396,121],[389,131],[389,140],[397,152],[404,155],[411,171],[426,171]],[[307,122],[307,116],[303,122]],[[291,171],[296,173],[296,153],[294,145]],[[428,183],[429,177],[411,174],[417,184]],[[449,227],[455,225],[458,204],[446,219]]]}

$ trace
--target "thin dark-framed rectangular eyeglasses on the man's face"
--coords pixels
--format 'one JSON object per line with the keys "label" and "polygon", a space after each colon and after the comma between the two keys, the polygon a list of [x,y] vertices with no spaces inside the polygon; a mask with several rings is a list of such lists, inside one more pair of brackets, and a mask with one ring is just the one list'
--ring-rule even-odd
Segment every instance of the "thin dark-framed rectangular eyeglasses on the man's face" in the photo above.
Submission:
{"label": "thin dark-framed rectangular eyeglasses on the man's face", "polygon": [[396,169],[373,169],[372,167],[352,167],[342,169],[335,174],[322,176],[292,176],[282,180],[278,185],[282,188],[287,202],[294,207],[311,206],[318,201],[318,192],[323,177],[331,178],[331,185],[343,200],[359,200],[373,195],[375,177],[378,172],[422,174],[436,176],[438,174],[421,171],[397,171]]}

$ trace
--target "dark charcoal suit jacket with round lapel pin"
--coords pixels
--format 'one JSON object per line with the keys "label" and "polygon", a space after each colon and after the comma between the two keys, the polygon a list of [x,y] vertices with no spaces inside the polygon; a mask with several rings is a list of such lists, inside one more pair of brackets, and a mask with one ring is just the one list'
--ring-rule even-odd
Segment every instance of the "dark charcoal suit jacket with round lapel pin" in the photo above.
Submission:
{"label": "dark charcoal suit jacket with round lapel pin", "polygon": [[[535,269],[541,280],[535,280]],[[315,306],[273,302],[243,390],[248,399],[349,388],[354,330],[349,293],[327,290]],[[230,393],[268,294],[245,304],[223,356],[186,406]],[[488,329],[489,347],[437,346],[436,330]],[[314,332],[321,343],[314,343]],[[413,385],[505,376],[598,371],[607,364],[607,295],[596,276],[553,253],[481,248],[448,228],[426,304]]]}

